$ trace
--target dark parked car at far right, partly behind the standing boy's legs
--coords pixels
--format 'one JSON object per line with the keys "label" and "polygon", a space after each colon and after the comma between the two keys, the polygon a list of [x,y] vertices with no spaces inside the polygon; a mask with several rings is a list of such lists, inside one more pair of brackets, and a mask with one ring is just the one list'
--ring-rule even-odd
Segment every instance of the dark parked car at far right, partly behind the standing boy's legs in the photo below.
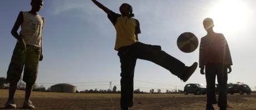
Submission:
{"label": "dark parked car at far right, partly behind the standing boy's legs", "polygon": [[[216,84],[216,94],[219,93],[218,84]],[[252,90],[247,84],[227,84],[227,93],[234,94],[239,93],[243,95],[244,93],[250,94]]]}

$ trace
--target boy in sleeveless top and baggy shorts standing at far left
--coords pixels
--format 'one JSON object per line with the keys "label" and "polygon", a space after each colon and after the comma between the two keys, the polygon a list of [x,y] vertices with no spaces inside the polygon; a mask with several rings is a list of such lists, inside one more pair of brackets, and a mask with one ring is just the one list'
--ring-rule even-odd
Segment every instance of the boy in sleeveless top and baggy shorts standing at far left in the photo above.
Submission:
{"label": "boy in sleeveless top and baggy shorts standing at far left", "polygon": [[[30,96],[33,84],[36,82],[38,63],[42,61],[42,28],[45,19],[38,12],[43,6],[43,0],[32,0],[32,9],[29,12],[19,12],[17,21],[12,28],[12,35],[17,39],[11,63],[7,72],[9,98],[6,108],[16,108],[14,93],[24,68],[23,81],[26,82],[26,94],[23,108],[33,109]],[[17,33],[21,26],[21,32]]]}

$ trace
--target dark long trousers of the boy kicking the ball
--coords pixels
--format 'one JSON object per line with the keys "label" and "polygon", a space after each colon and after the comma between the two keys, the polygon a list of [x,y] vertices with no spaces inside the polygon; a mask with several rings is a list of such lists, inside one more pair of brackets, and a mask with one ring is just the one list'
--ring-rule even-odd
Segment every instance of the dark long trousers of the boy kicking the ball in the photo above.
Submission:
{"label": "dark long trousers of the boy kicking the ball", "polygon": [[121,107],[133,105],[134,69],[137,58],[154,62],[179,78],[187,68],[184,63],[162,51],[160,46],[140,42],[119,48],[118,55],[121,63]]}

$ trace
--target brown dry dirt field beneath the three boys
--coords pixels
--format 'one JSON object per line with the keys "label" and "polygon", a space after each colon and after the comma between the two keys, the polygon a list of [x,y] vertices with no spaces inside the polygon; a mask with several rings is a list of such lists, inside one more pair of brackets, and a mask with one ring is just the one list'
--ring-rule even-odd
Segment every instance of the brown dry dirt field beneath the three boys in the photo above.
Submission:
{"label": "brown dry dirt field beneath the three boys", "polygon": [[[8,98],[8,91],[0,89],[0,109]],[[17,91],[17,107],[22,106],[24,91]],[[33,92],[36,109],[120,109],[120,94]],[[133,109],[205,109],[206,96],[193,94],[135,94]],[[228,109],[256,109],[256,94],[228,95]],[[218,109],[214,105],[215,109]]]}

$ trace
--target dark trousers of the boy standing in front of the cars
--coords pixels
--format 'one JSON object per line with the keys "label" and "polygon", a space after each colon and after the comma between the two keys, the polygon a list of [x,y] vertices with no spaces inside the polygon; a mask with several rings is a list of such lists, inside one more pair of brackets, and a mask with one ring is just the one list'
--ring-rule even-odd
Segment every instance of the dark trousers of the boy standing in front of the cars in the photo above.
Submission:
{"label": "dark trousers of the boy standing in front of the cars", "polygon": [[228,72],[225,64],[206,64],[205,77],[207,83],[207,104],[206,107],[212,107],[212,104],[216,103],[215,97],[215,78],[218,80],[218,106],[220,109],[227,109],[227,81]]}

